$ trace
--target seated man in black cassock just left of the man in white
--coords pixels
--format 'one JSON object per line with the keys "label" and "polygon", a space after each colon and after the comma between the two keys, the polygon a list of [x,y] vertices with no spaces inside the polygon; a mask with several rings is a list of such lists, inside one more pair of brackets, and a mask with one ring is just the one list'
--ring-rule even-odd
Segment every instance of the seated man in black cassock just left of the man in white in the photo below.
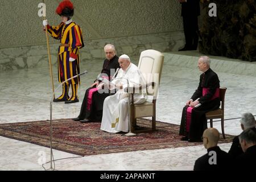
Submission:
{"label": "seated man in black cassock just left of the man in white", "polygon": [[[102,67],[101,73],[103,75],[108,75],[108,80],[110,80],[110,70],[114,69],[114,72],[117,71],[119,67],[118,56],[115,55],[115,48],[112,44],[107,44],[104,48],[106,59]],[[104,74],[105,73],[105,74]],[[101,82],[95,80],[94,82]],[[90,121],[101,121],[102,119],[102,109],[103,103],[106,97],[110,96],[110,93],[102,93],[97,90],[98,84],[93,84],[85,92],[84,100],[82,101],[80,114],[77,118],[73,118],[75,121],[81,121],[82,119],[89,119]]]}

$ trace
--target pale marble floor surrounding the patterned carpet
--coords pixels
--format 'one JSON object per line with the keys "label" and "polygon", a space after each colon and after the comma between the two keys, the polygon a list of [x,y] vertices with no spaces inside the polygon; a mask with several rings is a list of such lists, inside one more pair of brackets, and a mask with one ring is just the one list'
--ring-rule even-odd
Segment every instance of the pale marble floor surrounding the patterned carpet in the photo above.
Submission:
{"label": "pale marble floor surrounding the patterned carpet", "polygon": [[[180,123],[181,110],[185,101],[195,91],[200,72],[197,62],[191,68],[174,65],[165,53],[164,67],[157,101],[159,121]],[[182,57],[181,57],[182,59]],[[184,58],[185,59],[185,58]],[[134,63],[138,63],[135,61]],[[187,63],[186,63],[187,64]],[[246,65],[246,63],[244,63]],[[233,63],[230,62],[230,67]],[[101,71],[101,61],[86,61],[81,71],[80,102],[65,105],[53,104],[53,119],[77,117],[84,92]],[[250,67],[250,65],[249,65]],[[55,88],[59,85],[57,68],[53,68]],[[225,99],[225,133],[241,133],[239,119],[242,113],[256,114],[256,79],[241,73],[218,72],[221,86],[228,88]],[[256,70],[255,70],[256,72]],[[59,96],[61,90],[57,90]],[[49,119],[51,81],[47,65],[42,68],[20,69],[0,73],[0,123],[39,121]],[[213,126],[220,130],[220,122]],[[49,160],[49,148],[18,140],[0,137],[0,170],[43,170],[42,163]],[[220,144],[228,151],[231,143]],[[56,169],[59,170],[192,170],[195,160],[206,153],[203,145],[193,147],[166,148],[79,157],[67,152],[53,150]],[[44,165],[49,168],[49,164]]]}

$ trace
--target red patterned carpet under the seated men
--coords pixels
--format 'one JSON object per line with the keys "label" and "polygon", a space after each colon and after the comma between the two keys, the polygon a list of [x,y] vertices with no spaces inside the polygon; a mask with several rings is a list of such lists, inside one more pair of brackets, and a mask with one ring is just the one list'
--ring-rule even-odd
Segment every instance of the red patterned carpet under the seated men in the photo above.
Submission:
{"label": "red patterned carpet under the seated men", "polygon": [[[156,131],[140,133],[136,137],[101,131],[100,122],[80,123],[72,119],[56,119],[52,123],[52,148],[81,156],[203,144],[181,141],[179,125],[164,122],[156,122]],[[148,119],[138,119],[137,123],[141,127],[151,125]],[[0,135],[49,147],[49,121],[1,124]],[[225,140],[221,136],[220,143],[232,142],[232,139],[231,135],[226,135]]]}

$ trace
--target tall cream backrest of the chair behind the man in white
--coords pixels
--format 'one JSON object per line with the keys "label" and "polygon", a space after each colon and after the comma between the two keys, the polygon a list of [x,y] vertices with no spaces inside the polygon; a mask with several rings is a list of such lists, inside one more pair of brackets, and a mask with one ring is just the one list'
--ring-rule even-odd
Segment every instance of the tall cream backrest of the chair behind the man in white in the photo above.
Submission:
{"label": "tall cream backrest of the chair behind the man in white", "polygon": [[142,72],[146,82],[155,82],[155,86],[149,86],[147,88],[147,94],[153,96],[154,99],[156,99],[158,95],[163,63],[164,55],[161,52],[152,49],[142,51],[141,57],[139,57],[138,68]]}

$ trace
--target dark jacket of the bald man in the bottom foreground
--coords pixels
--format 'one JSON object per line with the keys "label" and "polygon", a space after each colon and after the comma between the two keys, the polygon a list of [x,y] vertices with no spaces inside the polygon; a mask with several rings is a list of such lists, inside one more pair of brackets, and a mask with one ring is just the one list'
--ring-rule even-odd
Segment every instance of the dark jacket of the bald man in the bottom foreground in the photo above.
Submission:
{"label": "dark jacket of the bald man in the bottom foreground", "polygon": [[[230,169],[230,156],[227,152],[222,151],[220,147],[208,148],[207,154],[198,158],[195,162],[194,171],[214,171],[214,170],[228,170]],[[209,164],[209,159],[213,155],[209,155],[210,151],[216,152],[217,164]],[[210,160],[212,161],[212,160]]]}

